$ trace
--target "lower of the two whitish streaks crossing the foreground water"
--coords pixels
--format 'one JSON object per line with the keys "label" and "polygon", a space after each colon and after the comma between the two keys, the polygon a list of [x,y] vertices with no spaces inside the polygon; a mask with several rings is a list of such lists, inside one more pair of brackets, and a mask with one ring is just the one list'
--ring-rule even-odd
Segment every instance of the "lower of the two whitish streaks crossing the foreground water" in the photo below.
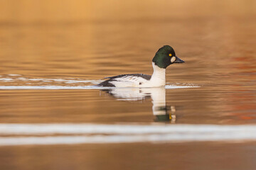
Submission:
{"label": "lower of the two whitish streaks crossing the foreground water", "polygon": [[222,134],[163,134],[163,135],[88,135],[57,137],[1,137],[0,146],[10,145],[74,145],[74,144],[107,144],[132,142],[242,142],[256,140],[255,135],[238,133]]}

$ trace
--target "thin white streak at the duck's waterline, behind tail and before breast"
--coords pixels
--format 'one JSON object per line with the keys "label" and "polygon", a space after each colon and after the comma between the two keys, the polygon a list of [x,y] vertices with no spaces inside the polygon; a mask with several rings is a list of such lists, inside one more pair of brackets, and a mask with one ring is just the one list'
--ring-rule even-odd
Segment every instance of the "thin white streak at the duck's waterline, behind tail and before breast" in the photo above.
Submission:
{"label": "thin white streak at the duck's waterline, behind tail and before breast", "polygon": [[[185,89],[199,86],[166,86],[166,89]],[[0,86],[1,90],[74,90],[74,89],[113,89],[100,86]],[[129,88],[127,88],[129,89]],[[131,88],[130,88],[131,89]]]}

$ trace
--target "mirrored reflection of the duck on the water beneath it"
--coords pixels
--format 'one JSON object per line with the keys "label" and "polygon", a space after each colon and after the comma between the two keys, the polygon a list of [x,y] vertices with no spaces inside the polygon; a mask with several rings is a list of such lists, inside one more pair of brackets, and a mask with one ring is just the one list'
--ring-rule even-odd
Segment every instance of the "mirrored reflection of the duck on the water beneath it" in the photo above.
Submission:
{"label": "mirrored reflection of the duck on the water beneath it", "polygon": [[115,88],[105,89],[108,94],[117,98],[119,101],[142,101],[151,97],[152,111],[157,122],[176,122],[175,106],[166,105],[166,89],[161,88]]}

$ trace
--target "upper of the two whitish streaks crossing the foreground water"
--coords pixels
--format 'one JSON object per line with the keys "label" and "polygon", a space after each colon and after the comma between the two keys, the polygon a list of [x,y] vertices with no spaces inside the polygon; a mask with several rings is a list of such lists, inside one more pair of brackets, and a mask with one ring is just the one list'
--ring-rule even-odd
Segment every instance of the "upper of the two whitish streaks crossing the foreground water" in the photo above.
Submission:
{"label": "upper of the two whitish streaks crossing the foreground water", "polygon": [[255,133],[256,125],[100,125],[100,124],[0,124],[1,134],[150,134],[150,133]]}

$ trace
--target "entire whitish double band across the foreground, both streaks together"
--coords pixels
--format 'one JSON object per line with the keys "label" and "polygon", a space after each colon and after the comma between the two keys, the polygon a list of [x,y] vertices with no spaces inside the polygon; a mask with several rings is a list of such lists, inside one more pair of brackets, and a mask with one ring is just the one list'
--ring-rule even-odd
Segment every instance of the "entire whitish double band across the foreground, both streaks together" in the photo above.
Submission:
{"label": "entire whitish double band across the foreground, both streaks together", "polygon": [[[76,135],[57,136],[47,135]],[[104,134],[104,135],[103,135]],[[0,145],[256,140],[256,125],[0,124]],[[78,136],[82,135],[82,136]]]}

